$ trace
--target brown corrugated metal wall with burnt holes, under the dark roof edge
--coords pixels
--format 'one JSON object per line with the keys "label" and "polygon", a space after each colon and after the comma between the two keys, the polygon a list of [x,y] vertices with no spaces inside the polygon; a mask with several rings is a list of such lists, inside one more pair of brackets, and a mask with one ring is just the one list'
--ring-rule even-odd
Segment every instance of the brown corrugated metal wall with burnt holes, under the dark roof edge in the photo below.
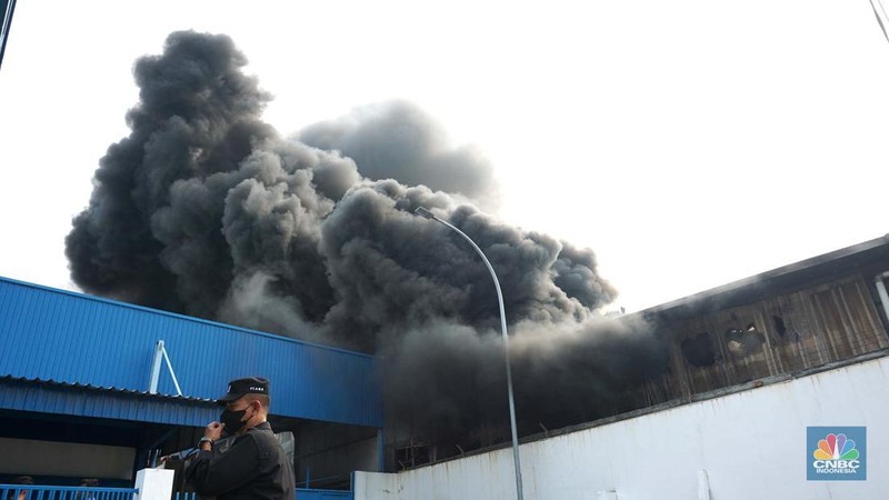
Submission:
{"label": "brown corrugated metal wall with burnt holes, under the dark roof edge", "polygon": [[861,274],[660,326],[671,368],[652,402],[792,373],[889,348]]}

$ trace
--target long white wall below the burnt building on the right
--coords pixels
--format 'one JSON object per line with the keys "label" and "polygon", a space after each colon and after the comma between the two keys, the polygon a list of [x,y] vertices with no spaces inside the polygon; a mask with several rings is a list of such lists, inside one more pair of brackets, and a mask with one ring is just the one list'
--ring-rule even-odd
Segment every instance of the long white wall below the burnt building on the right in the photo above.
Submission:
{"label": "long white wall below the burnt building on the right", "polygon": [[[807,426],[866,426],[868,479],[807,481]],[[522,444],[525,499],[889,499],[888,428],[881,358]],[[516,498],[511,449],[354,486],[356,500]]]}

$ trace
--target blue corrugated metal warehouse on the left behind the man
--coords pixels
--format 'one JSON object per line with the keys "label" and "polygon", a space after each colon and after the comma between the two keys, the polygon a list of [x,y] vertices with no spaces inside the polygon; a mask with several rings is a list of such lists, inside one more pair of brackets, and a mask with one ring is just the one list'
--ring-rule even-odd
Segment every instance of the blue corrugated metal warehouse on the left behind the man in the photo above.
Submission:
{"label": "blue corrugated metal warehouse on the left behind the man", "polygon": [[229,380],[271,380],[299,487],[348,488],[381,470],[372,357],[0,279],[0,483],[132,484],[193,447]]}

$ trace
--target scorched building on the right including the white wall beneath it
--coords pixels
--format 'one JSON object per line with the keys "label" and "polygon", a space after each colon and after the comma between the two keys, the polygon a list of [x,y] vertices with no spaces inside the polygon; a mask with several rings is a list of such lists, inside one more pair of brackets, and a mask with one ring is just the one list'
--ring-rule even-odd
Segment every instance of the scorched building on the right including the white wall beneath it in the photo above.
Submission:
{"label": "scorched building on the right including the white wall beneath it", "polygon": [[[883,237],[622,317],[656,331],[667,370],[612,414],[523,436],[523,498],[886,498],[888,277]],[[815,452],[840,433],[853,473],[822,473]],[[354,498],[517,498],[508,443],[427,446],[420,467],[357,473]]]}

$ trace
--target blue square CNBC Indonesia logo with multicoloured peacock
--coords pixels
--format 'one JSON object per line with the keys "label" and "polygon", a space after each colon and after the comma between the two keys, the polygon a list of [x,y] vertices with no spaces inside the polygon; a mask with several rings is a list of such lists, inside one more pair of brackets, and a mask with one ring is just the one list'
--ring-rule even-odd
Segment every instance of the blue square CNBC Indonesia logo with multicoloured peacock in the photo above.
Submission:
{"label": "blue square CNBC Indonesia logo with multicoloured peacock", "polygon": [[807,434],[809,480],[867,479],[866,428],[810,427]]}

